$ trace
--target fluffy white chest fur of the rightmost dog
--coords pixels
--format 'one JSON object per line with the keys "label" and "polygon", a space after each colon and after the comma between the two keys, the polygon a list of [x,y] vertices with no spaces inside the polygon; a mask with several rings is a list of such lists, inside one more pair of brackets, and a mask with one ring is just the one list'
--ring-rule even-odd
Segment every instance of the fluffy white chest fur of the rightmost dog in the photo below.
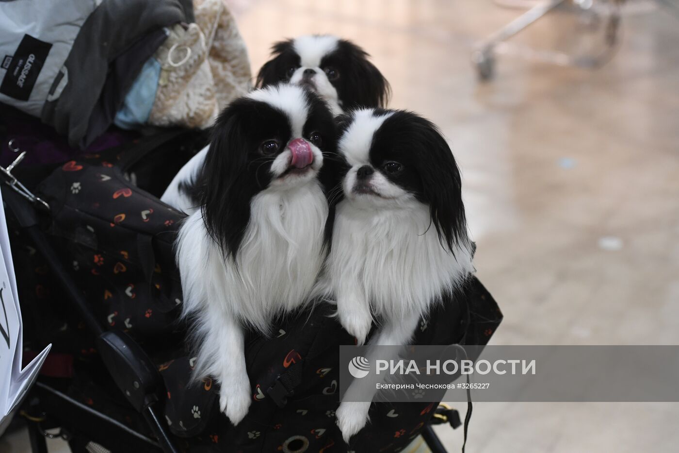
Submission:
{"label": "fluffy white chest fur of the rightmost dog", "polygon": [[473,271],[467,248],[445,250],[428,207],[363,209],[337,205],[327,282],[336,299],[363,298],[373,316],[421,314]]}

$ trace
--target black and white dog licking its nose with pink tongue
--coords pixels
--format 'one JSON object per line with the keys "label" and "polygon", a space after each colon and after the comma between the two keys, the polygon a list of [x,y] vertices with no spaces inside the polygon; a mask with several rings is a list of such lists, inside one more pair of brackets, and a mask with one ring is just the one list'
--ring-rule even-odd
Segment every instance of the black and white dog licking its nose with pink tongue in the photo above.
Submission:
{"label": "black and white dog licking its nose with pink tongue", "polygon": [[244,331],[301,307],[323,265],[328,203],[319,172],[335,153],[327,103],[291,84],[254,90],[215,122],[199,184],[201,209],[181,225],[183,316],[198,353],[194,377],[221,384],[238,424],[252,401]]}

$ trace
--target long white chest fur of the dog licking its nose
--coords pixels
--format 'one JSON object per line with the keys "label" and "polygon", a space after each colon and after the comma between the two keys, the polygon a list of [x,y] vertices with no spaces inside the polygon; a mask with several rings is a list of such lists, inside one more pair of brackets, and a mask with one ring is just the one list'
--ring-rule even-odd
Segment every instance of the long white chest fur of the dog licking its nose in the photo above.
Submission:
{"label": "long white chest fur of the dog licking its nose", "polygon": [[262,333],[272,318],[308,301],[323,264],[327,201],[315,180],[292,190],[264,190],[251,202],[236,255],[224,259],[202,215],[179,233],[184,313],[224,310]]}

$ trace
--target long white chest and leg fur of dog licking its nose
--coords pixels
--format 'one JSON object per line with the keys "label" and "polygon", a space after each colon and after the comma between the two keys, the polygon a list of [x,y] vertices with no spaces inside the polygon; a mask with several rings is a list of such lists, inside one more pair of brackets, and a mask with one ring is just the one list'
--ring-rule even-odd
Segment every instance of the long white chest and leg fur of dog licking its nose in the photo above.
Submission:
{"label": "long white chest and leg fur of dog licking its nose", "polygon": [[[269,94],[266,101],[289,95],[285,90]],[[299,129],[292,137],[300,137],[304,121],[300,124],[299,110],[288,104],[284,112]],[[235,259],[225,256],[208,235],[200,210],[179,230],[182,314],[194,320],[198,346],[194,377],[212,375],[222,385],[220,407],[234,424],[244,418],[252,401],[244,329],[267,335],[275,316],[310,299],[323,265],[328,207],[315,178],[323,155],[315,146],[311,148],[312,170],[274,180],[253,198],[250,221]],[[284,158],[289,161],[289,154]],[[272,173],[278,175],[273,168]]]}

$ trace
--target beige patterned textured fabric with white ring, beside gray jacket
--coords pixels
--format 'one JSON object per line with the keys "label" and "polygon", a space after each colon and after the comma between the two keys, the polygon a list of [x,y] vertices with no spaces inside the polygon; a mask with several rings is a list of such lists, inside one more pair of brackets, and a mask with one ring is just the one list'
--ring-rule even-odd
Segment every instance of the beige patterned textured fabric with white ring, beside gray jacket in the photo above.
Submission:
{"label": "beige patterned textured fabric with white ring, beside gray jacket", "polygon": [[245,44],[223,0],[194,0],[194,14],[196,23],[176,24],[155,52],[162,69],[149,124],[209,127],[251,88]]}

